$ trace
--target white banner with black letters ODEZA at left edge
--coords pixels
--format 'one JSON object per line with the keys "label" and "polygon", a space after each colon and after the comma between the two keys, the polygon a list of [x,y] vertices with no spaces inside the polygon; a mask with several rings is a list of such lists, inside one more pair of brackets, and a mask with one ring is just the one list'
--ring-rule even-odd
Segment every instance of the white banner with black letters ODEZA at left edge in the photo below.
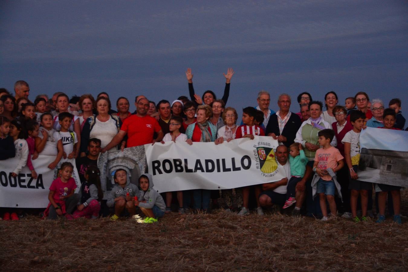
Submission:
{"label": "white banner with black letters ODEZA at left edge", "polygon": [[31,171],[24,166],[18,177],[11,177],[13,170],[18,164],[18,158],[0,161],[0,207],[8,208],[47,208],[49,203],[49,187],[57,177],[57,170],[64,161],[69,161],[74,166],[72,177],[75,179],[78,192],[81,182],[78,170],[75,167],[75,159],[61,159],[53,170],[48,165],[55,160],[55,156],[39,155],[32,160],[37,179],[31,177]]}

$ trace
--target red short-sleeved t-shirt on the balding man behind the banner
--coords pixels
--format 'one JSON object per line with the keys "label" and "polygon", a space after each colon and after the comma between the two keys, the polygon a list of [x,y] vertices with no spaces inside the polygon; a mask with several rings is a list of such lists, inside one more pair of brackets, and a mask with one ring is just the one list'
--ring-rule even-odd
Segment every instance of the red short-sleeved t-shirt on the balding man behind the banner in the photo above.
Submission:
{"label": "red short-sleeved t-shirt on the balding man behind the banner", "polygon": [[144,117],[131,115],[124,119],[120,130],[123,130],[128,135],[126,147],[132,147],[151,144],[153,142],[153,134],[159,132],[162,128],[159,122],[149,115]]}

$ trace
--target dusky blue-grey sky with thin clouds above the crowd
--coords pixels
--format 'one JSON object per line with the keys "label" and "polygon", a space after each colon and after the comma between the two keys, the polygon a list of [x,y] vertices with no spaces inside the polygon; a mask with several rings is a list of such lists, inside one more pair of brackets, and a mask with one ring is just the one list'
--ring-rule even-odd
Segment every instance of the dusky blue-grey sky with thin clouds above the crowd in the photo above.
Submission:
{"label": "dusky blue-grey sky with thin clouds above the crowd", "polygon": [[[56,91],[102,91],[113,104],[136,95],[170,102],[196,93],[240,113],[257,93],[314,100],[335,91],[339,104],[365,91],[408,108],[408,1],[1,1],[0,87],[30,85],[30,99]],[[408,111],[405,111],[408,115]]]}

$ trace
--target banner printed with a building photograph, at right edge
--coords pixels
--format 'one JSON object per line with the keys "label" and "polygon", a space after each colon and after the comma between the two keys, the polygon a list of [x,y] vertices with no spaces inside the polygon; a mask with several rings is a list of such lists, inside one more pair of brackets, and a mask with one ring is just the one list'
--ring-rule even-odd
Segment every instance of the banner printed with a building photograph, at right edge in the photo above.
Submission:
{"label": "banner printed with a building photograph, at right edge", "polygon": [[366,128],[360,147],[359,180],[408,187],[408,132]]}

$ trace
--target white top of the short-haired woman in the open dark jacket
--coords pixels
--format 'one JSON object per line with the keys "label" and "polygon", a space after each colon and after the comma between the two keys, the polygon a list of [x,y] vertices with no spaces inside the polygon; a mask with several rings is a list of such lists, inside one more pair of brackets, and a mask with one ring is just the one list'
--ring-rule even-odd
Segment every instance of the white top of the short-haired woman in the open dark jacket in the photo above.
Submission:
{"label": "white top of the short-haired woman in the open dark jacket", "polygon": [[[118,134],[118,128],[116,127],[116,122],[112,117],[109,116],[109,120],[106,122],[101,122],[98,118],[95,118],[95,124],[92,127],[91,132],[89,133],[89,139],[98,138],[101,140],[101,148],[107,146]],[[108,152],[114,152],[118,150],[116,146],[108,150]]]}

